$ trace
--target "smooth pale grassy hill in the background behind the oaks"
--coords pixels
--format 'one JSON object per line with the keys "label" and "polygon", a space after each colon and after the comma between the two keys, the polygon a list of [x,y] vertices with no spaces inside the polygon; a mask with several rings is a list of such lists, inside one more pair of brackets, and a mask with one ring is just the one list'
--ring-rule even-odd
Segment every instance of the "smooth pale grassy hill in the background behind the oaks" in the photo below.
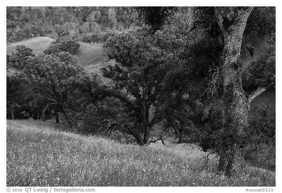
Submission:
{"label": "smooth pale grassy hill in the background behind the oaks", "polygon": [[[16,46],[20,45],[31,48],[34,54],[39,54],[46,50],[53,41],[55,40],[49,37],[30,38],[28,40],[7,45],[6,54],[11,54],[16,50]],[[106,59],[102,44],[90,45],[81,42],[78,43],[80,44],[80,47],[75,55],[78,57],[80,65],[83,66],[87,72],[97,72],[99,68],[103,66],[103,60]],[[16,69],[13,68],[9,68],[9,70],[11,72],[16,71]]]}

